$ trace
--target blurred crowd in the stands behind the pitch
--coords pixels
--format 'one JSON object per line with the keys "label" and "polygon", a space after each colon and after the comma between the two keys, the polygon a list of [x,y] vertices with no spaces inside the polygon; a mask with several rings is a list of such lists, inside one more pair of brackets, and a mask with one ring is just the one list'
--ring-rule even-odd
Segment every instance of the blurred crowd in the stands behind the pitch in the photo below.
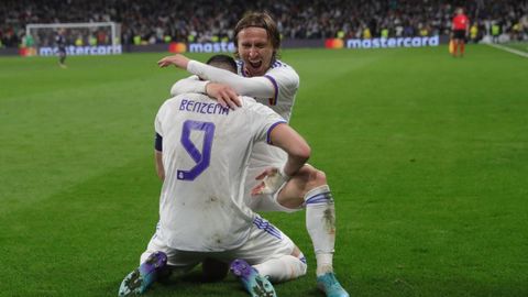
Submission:
{"label": "blurred crowd in the stands behind the pitch", "polygon": [[58,22],[118,22],[124,44],[229,41],[244,12],[262,10],[285,38],[442,35],[459,6],[475,42],[497,28],[512,40],[528,38],[528,0],[2,0],[0,46],[19,46],[28,23]]}

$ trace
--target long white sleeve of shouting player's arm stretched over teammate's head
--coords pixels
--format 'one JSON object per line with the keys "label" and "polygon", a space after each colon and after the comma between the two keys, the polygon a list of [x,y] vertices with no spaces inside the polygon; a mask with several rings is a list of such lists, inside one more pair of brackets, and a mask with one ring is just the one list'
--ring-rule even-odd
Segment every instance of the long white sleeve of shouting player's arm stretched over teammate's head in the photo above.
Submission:
{"label": "long white sleeve of shouting player's arm stretched over teammate's head", "polygon": [[256,98],[272,98],[276,88],[266,77],[242,77],[229,70],[220,69],[197,61],[189,61],[187,70],[194,75],[215,82],[232,87],[239,95]]}

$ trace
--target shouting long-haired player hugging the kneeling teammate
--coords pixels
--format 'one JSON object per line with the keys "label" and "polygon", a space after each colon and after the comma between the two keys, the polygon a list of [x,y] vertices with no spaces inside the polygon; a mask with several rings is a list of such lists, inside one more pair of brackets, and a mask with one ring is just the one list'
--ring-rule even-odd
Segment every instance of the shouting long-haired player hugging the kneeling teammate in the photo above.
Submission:
{"label": "shouting long-haired player hugging the kneeling teammate", "polygon": [[[175,65],[195,75],[176,82],[172,94],[206,92],[232,108],[238,105],[237,94],[251,96],[289,121],[299,76],[277,59],[280,35],[275,21],[266,13],[246,14],[234,29],[234,44],[239,76],[179,54],[161,59],[161,67]],[[201,81],[198,76],[209,81]],[[255,145],[248,168],[245,201],[254,211],[290,212],[306,208],[306,228],[316,251],[318,287],[327,296],[348,297],[333,273],[336,211],[326,175],[308,164],[293,176],[267,168],[268,164],[282,164],[285,158],[276,147]],[[252,178],[255,176],[258,180]],[[267,184],[277,178],[286,182],[279,193],[266,190]]]}

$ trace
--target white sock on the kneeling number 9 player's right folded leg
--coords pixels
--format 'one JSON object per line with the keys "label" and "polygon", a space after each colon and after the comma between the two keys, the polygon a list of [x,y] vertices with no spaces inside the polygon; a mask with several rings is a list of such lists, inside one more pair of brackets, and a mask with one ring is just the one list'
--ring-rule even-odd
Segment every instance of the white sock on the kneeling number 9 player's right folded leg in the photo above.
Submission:
{"label": "white sock on the kneeling number 9 player's right folded leg", "polygon": [[306,274],[307,265],[302,253],[298,257],[284,255],[253,265],[260,275],[270,277],[272,283],[286,282]]}

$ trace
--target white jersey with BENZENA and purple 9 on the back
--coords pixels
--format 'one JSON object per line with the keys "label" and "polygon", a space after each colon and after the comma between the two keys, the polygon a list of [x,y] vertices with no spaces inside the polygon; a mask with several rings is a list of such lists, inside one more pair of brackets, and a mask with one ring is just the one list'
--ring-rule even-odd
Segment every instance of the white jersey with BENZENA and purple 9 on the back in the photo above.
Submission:
{"label": "white jersey with BENZENA and purple 9 on the back", "polygon": [[249,237],[255,216],[244,202],[250,154],[284,120],[242,98],[243,107],[230,110],[205,95],[180,95],[156,116],[165,167],[160,229],[173,249],[226,251]]}

